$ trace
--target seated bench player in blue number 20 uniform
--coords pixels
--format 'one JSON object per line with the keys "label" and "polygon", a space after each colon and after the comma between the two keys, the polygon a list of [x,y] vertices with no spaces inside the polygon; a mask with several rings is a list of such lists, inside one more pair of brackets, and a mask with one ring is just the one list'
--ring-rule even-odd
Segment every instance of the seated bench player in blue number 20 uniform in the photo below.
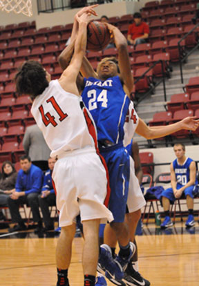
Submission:
{"label": "seated bench player in blue number 20 uniform", "polygon": [[189,216],[186,227],[193,227],[195,225],[193,217],[193,188],[198,184],[196,179],[196,163],[185,156],[185,146],[182,143],[175,144],[173,147],[176,154],[176,160],[171,165],[171,188],[162,192],[162,205],[164,208],[165,218],[162,222],[162,229],[171,227],[173,222],[169,216],[170,203],[173,204],[175,200],[183,196],[187,199],[187,208]]}

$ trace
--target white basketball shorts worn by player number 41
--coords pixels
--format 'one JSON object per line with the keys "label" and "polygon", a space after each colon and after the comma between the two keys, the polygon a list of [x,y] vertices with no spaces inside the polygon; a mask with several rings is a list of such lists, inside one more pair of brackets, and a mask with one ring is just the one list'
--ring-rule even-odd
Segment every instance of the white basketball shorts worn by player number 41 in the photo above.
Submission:
{"label": "white basketball shorts worn by player number 41", "polygon": [[106,171],[94,148],[65,152],[59,156],[53,181],[57,192],[59,227],[72,225],[79,214],[82,221],[113,215],[104,205],[106,198]]}

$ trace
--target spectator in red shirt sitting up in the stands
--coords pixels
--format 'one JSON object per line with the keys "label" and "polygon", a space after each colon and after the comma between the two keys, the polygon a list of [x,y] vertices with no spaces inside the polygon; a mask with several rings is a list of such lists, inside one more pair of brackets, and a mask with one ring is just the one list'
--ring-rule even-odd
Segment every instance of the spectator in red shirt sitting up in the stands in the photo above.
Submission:
{"label": "spectator in red shirt sitting up in the stands", "polygon": [[129,26],[127,39],[131,45],[139,45],[146,43],[149,38],[149,25],[142,21],[142,15],[136,12],[133,15],[134,23]]}

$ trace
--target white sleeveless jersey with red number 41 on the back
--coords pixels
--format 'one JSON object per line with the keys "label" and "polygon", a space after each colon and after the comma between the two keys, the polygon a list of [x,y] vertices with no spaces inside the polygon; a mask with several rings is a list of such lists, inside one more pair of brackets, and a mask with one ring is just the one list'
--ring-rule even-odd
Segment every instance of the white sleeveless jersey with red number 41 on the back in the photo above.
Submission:
{"label": "white sleeveless jersey with red number 41 on the back", "polygon": [[[51,157],[95,147],[95,125],[81,97],[66,92],[57,79],[51,81],[44,93],[35,98],[31,113],[52,151]],[[93,128],[93,137],[88,126]]]}

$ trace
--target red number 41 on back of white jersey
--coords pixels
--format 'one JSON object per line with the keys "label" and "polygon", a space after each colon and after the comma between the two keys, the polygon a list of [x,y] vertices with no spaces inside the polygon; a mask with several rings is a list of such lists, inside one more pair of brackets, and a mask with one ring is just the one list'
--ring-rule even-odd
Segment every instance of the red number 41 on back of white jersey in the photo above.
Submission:
{"label": "red number 41 on back of white jersey", "polygon": [[[55,97],[50,97],[48,100],[46,100],[47,103],[51,103],[53,105],[53,108],[55,109],[55,111],[57,112],[57,114],[59,115],[59,121],[63,121],[68,115],[66,113],[64,113],[60,106],[57,104]],[[46,114],[44,113],[44,107],[41,105],[39,106],[39,111],[41,113],[41,117],[42,120],[45,124],[45,126],[48,126],[48,124],[52,124],[54,127],[57,126],[57,122],[55,121],[55,116],[50,115],[49,112],[47,112]]]}

